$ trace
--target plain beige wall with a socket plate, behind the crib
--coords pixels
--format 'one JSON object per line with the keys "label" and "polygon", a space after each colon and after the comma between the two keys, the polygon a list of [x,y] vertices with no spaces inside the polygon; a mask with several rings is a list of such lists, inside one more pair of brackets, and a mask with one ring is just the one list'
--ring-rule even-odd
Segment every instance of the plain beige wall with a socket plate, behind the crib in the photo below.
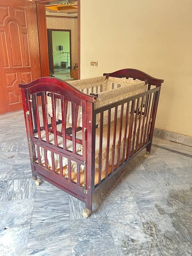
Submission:
{"label": "plain beige wall with a socket plate, behind the crib", "polygon": [[156,128],[192,136],[191,10],[191,0],[81,0],[81,78],[137,68],[164,79]]}

